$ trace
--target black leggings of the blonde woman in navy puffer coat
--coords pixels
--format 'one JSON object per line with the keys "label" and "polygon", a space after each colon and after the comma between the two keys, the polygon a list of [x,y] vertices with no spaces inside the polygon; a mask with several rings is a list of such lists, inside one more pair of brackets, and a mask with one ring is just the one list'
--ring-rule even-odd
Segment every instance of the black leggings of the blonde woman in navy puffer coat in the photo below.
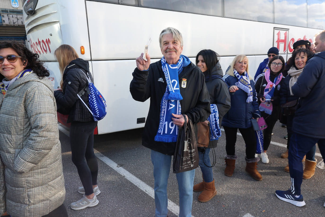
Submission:
{"label": "black leggings of the blonde woman in navy puffer coat", "polygon": [[245,144],[247,159],[255,158],[256,153],[256,137],[253,127],[249,128],[232,128],[223,127],[226,134],[226,152],[227,155],[235,155],[235,145],[237,140],[237,129],[239,129]]}

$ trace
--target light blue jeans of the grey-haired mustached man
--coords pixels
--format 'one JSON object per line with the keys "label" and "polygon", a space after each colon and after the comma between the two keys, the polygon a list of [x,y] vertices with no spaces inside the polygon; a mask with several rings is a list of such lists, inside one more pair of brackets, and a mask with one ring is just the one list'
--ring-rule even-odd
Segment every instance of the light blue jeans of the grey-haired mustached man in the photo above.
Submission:
{"label": "light blue jeans of the grey-haired mustached man", "polygon": [[[172,156],[151,150],[151,162],[155,179],[155,217],[167,216],[167,180],[171,161]],[[179,191],[179,217],[192,216],[194,174],[195,169],[176,173]]]}

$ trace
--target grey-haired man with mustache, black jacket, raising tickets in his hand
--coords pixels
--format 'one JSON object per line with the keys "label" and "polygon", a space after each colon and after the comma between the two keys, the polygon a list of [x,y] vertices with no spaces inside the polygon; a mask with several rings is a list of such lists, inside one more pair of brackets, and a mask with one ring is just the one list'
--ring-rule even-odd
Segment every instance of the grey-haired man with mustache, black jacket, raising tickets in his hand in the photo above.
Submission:
{"label": "grey-haired man with mustache, black jacket, raising tickets in his hand", "polygon": [[[171,116],[170,119],[163,122],[163,126],[167,126],[167,128],[162,131],[166,130],[167,132],[170,130],[171,133],[177,131],[177,126],[184,126],[182,114],[185,114],[193,124],[205,121],[210,115],[210,99],[201,70],[189,61],[186,56],[181,55],[183,51],[181,33],[175,28],[168,27],[162,30],[159,42],[162,54],[164,55],[162,60],[150,64],[149,54],[146,55],[148,61],[143,59],[143,54],[136,58],[137,67],[132,74],[133,79],[130,84],[130,92],[136,101],[144,102],[150,98],[150,108],[143,132],[142,145],[151,149],[151,161],[155,179],[155,216],[165,217],[168,212],[167,179],[171,166],[171,156],[175,152],[176,142],[162,142],[157,139],[158,134],[161,132],[162,111],[165,108],[163,103],[161,103],[162,99],[165,97],[168,89],[179,90],[182,97],[179,100],[179,108],[181,107],[179,114],[173,113],[173,117]],[[178,67],[181,61],[184,64]],[[175,69],[175,65],[177,65],[176,70],[178,70],[175,76],[177,77],[178,72],[178,79],[170,80],[169,76],[166,76],[166,73],[164,73],[166,71],[163,71],[162,66]],[[170,86],[170,83],[172,83],[172,86]],[[168,86],[167,89],[166,86]],[[168,129],[168,126],[170,129]],[[194,127],[196,127],[196,124]],[[174,128],[176,128],[175,131]],[[179,186],[179,216],[191,216],[194,174],[195,170],[176,174]]]}

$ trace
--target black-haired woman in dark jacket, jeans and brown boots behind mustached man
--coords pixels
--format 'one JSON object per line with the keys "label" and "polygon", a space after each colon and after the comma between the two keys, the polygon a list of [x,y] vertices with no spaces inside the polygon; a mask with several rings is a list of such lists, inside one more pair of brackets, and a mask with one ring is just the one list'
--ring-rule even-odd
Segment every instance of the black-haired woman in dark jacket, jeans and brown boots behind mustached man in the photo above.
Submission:
{"label": "black-haired woman in dark jacket, jeans and brown boots behind mustached man", "polygon": [[[222,80],[223,72],[219,63],[219,55],[213,50],[201,50],[196,55],[196,65],[201,69],[205,76],[205,84],[210,95],[210,103],[215,104],[219,114],[219,125],[221,126],[222,118],[230,109],[230,94],[227,84]],[[209,121],[205,121],[207,124]],[[202,171],[203,182],[194,185],[193,191],[203,191],[198,201],[207,202],[216,195],[214,178],[210,163],[209,153],[211,148],[216,147],[218,140],[209,142],[208,148],[198,148],[199,165]]]}

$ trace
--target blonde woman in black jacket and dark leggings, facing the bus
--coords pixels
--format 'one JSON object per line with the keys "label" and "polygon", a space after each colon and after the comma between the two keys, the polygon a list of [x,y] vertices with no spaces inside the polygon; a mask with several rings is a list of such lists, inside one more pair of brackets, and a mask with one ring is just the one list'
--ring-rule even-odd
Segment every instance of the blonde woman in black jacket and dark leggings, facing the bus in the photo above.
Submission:
{"label": "blonde woman in black jacket and dark leggings, facing the bus", "polygon": [[[78,192],[84,197],[70,204],[73,210],[81,210],[98,204],[97,195],[100,193],[97,186],[98,162],[94,154],[94,129],[97,121],[88,108],[78,98],[77,94],[88,85],[85,73],[88,73],[91,81],[93,78],[89,72],[88,61],[80,59],[77,52],[70,45],[61,45],[54,52],[59,62],[62,76],[60,88],[54,91],[58,112],[68,114],[67,123],[70,127],[70,145],[72,162],[77,167],[83,187]],[[81,96],[88,104],[88,93]]]}

